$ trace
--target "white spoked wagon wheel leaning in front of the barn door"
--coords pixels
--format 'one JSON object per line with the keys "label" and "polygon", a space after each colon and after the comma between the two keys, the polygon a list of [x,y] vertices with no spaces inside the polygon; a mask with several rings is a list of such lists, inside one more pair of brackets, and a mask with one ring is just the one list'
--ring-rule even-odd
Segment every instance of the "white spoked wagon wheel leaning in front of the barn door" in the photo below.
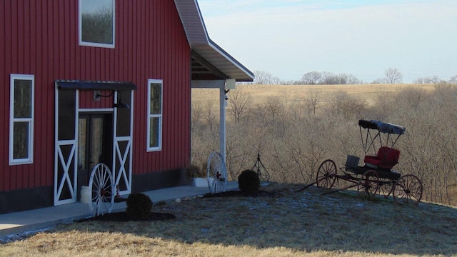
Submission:
{"label": "white spoked wagon wheel leaning in front of the barn door", "polygon": [[116,196],[116,187],[114,186],[113,175],[106,164],[99,163],[92,169],[89,191],[91,192],[89,209],[92,216],[111,213]]}

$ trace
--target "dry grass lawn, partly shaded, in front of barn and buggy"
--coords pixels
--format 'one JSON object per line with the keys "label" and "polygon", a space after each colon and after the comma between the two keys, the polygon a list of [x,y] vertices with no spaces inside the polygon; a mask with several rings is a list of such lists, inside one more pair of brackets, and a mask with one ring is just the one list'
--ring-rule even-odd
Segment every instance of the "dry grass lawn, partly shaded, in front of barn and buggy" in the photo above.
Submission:
{"label": "dry grass lawn, partly shaded, in front of barn and buggy", "polygon": [[0,245],[0,256],[457,256],[456,208],[300,188],[154,206],[169,221],[61,225]]}

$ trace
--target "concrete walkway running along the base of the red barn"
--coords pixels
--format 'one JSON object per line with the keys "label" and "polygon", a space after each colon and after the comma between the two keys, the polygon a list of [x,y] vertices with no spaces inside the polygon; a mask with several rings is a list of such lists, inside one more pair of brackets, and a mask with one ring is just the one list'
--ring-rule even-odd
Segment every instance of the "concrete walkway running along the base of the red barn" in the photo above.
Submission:
{"label": "concrete walkway running along the base of the red barn", "polygon": [[[227,190],[238,188],[237,181],[227,183]],[[203,196],[209,193],[208,187],[178,186],[144,192],[151,201],[156,204],[161,201],[169,202],[176,199]],[[126,203],[114,203],[113,212],[125,211]],[[59,223],[72,223],[82,218],[89,218],[89,204],[69,203],[61,206],[39,208],[31,211],[0,214],[0,236],[8,236],[14,233],[36,231],[49,228]]]}

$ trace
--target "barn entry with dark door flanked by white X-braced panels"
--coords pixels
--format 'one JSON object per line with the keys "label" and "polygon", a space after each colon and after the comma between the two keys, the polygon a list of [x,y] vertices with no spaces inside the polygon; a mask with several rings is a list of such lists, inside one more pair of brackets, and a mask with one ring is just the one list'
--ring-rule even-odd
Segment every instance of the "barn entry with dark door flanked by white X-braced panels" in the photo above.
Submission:
{"label": "barn entry with dark door flanked by white X-braced panels", "polygon": [[129,82],[56,81],[54,205],[79,200],[91,168],[105,163],[131,193],[133,90]]}

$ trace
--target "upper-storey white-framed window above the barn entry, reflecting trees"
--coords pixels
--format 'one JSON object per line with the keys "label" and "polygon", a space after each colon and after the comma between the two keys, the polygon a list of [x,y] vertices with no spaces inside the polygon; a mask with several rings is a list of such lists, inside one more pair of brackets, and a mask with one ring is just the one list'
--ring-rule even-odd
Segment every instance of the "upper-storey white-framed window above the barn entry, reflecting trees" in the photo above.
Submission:
{"label": "upper-storey white-framed window above the barn entry, reflecting trees", "polygon": [[114,48],[114,0],[79,0],[79,45]]}

